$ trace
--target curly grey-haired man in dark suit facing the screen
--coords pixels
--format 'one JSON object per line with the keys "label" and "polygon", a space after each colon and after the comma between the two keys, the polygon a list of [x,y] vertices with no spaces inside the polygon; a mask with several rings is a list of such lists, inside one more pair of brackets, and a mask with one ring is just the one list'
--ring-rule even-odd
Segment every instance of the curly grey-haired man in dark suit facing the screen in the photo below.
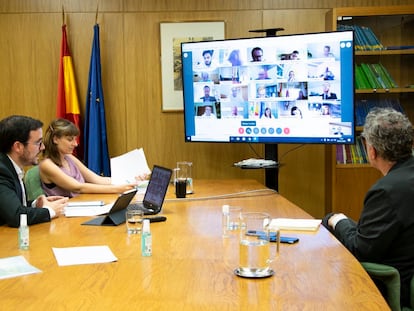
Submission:
{"label": "curly grey-haired man in dark suit facing the screen", "polygon": [[358,223],[343,214],[328,214],[322,223],[359,261],[395,267],[401,276],[401,305],[409,306],[414,274],[414,130],[402,113],[374,108],[362,136],[370,164],[384,176],[368,190]]}

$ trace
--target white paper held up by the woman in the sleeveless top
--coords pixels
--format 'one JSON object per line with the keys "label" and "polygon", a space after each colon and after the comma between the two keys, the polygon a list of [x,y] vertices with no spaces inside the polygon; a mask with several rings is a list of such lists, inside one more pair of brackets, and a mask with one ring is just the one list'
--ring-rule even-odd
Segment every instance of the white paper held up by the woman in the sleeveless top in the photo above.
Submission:
{"label": "white paper held up by the woman in the sleeveless top", "polygon": [[135,177],[150,174],[144,150],[134,149],[118,157],[111,158],[111,179],[113,184],[135,182]]}

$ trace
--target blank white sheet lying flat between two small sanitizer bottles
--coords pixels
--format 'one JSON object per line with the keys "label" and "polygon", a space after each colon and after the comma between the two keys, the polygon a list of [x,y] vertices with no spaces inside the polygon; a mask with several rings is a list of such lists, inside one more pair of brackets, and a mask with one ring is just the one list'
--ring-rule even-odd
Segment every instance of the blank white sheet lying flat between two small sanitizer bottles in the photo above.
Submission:
{"label": "blank white sheet lying flat between two small sanitizer bottles", "polygon": [[59,266],[107,263],[118,260],[111,249],[106,245],[64,248],[53,247],[52,249]]}

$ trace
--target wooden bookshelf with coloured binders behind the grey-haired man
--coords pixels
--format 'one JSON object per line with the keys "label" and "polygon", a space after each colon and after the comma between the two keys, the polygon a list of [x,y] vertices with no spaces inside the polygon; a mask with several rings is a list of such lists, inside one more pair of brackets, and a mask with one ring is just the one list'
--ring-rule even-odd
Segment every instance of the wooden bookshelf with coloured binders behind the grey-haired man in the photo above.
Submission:
{"label": "wooden bookshelf with coloured binders behind the grey-haired man", "polygon": [[[360,49],[360,47],[357,49],[355,43],[356,110],[368,109],[368,106],[374,104],[397,105],[413,122],[414,5],[333,8],[326,14],[325,25],[327,31],[342,27],[366,27],[380,42],[381,46],[368,47],[368,49]],[[361,79],[357,76],[359,66],[382,66],[392,77],[395,85],[381,84],[383,81],[379,81],[377,87],[372,87],[370,84],[358,85],[357,80]],[[385,79],[385,76],[377,77],[379,80]],[[357,121],[358,118],[362,119],[356,127],[356,132],[359,134],[362,131],[364,115],[356,115],[356,118]],[[347,162],[339,156],[338,149],[341,148],[344,152],[348,152],[354,161]],[[361,154],[363,151],[358,151],[358,142],[355,146],[349,146],[348,151],[345,151],[342,146],[328,146],[326,152],[326,195],[327,202],[330,202],[328,211],[343,212],[358,220],[365,193],[376,180],[382,177],[381,173],[369,164],[355,160],[363,156]]]}

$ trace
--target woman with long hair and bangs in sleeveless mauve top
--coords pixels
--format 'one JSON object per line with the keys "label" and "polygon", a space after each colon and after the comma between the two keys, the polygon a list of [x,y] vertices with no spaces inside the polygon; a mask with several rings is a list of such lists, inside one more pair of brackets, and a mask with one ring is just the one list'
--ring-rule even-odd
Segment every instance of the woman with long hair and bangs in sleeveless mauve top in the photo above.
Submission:
{"label": "woman with long hair and bangs in sleeveless mauve top", "polygon": [[136,183],[113,185],[110,177],[88,169],[72,154],[78,146],[78,136],[79,129],[66,119],[56,119],[47,128],[44,158],[39,164],[42,189],[47,195],[122,193],[136,187]]}

